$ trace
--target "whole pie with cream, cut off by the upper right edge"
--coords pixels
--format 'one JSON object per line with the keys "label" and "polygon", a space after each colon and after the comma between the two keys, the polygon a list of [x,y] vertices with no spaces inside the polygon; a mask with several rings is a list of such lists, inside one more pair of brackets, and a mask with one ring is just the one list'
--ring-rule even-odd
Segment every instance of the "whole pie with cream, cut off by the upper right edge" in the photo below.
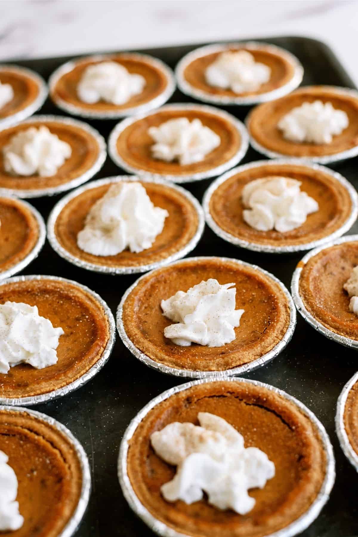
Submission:
{"label": "whole pie with cream, cut off by the upper right edge", "polygon": [[335,86],[299,88],[255,107],[246,126],[253,148],[269,158],[308,158],[326,164],[353,157],[358,154],[358,93]]}

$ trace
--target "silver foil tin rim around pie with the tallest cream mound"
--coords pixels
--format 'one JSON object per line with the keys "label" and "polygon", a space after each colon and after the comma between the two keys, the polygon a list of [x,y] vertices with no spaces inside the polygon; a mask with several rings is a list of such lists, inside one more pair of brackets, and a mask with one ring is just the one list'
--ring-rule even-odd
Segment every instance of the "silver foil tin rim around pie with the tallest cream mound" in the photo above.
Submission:
{"label": "silver foil tin rim around pie with the tallest cream mound", "polygon": [[[68,250],[63,248],[63,246],[60,244],[59,240],[57,239],[56,233],[55,233],[55,227],[56,227],[56,220],[59,214],[61,213],[62,209],[68,204],[68,202],[74,198],[76,198],[79,194],[82,194],[83,192],[87,190],[92,190],[92,188],[96,188],[98,186],[107,185],[107,184],[116,184],[120,182],[141,182],[141,183],[155,183],[155,184],[162,184],[166,187],[173,188],[173,190],[176,190],[177,192],[180,192],[183,194],[187,200],[189,200],[192,205],[194,206],[196,213],[198,214],[198,228],[196,229],[196,232],[194,236],[191,238],[191,240],[185,244],[181,250],[178,252],[173,253],[171,256],[167,257],[166,259],[162,259],[160,261],[157,261],[155,263],[149,263],[149,264],[143,264],[138,266],[106,266],[106,265],[100,265],[96,263],[90,263],[86,262],[83,259],[76,257],[72,255]],[[164,224],[165,225],[165,224]],[[52,212],[49,215],[48,222],[47,222],[47,237],[50,245],[52,248],[59,254],[59,256],[66,259],[68,262],[80,267],[81,269],[86,269],[94,272],[101,272],[105,274],[136,274],[139,272],[147,272],[150,270],[158,269],[159,267],[162,267],[164,265],[167,265],[171,263],[172,261],[176,261],[177,259],[181,259],[182,257],[185,257],[189,252],[191,252],[196,244],[200,241],[200,238],[203,234],[205,226],[205,220],[204,220],[204,214],[203,210],[201,208],[201,205],[199,201],[194,198],[194,196],[185,190],[185,188],[182,188],[177,185],[168,185],[163,179],[151,179],[150,177],[136,177],[136,176],[129,176],[129,175],[122,175],[122,176],[114,176],[114,177],[107,177],[105,179],[98,179],[97,181],[93,181],[85,186],[82,186],[80,188],[77,188],[74,192],[71,192],[70,194],[67,194],[64,198],[62,198],[52,209]]]}

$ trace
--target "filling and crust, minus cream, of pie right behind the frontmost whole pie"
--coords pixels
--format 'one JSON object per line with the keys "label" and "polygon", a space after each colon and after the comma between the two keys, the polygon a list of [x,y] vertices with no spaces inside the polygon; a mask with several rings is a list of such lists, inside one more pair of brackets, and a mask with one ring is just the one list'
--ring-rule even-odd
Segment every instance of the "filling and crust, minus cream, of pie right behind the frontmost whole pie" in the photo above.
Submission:
{"label": "filling and crust, minus cream, of pie right behind the frontmost whole pie", "polygon": [[[160,302],[209,278],[236,285],[236,309],[245,310],[235,328],[236,339],[221,347],[174,344],[164,337],[165,326],[173,321],[164,317]],[[290,307],[279,284],[254,267],[202,258],[145,275],[123,304],[122,318],[131,342],[152,360],[191,371],[224,371],[271,351],[287,331]]]}

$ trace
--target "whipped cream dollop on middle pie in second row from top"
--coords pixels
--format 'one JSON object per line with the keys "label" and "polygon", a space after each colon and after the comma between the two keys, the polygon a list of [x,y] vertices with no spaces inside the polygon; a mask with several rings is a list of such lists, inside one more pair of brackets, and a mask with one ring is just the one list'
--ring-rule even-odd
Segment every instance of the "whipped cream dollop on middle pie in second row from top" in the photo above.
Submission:
{"label": "whipped cream dollop on middle pie in second row from top", "polygon": [[221,143],[220,136],[200,119],[170,119],[159,127],[150,127],[148,133],[156,142],[151,147],[154,158],[166,162],[177,160],[181,165],[202,161]]}

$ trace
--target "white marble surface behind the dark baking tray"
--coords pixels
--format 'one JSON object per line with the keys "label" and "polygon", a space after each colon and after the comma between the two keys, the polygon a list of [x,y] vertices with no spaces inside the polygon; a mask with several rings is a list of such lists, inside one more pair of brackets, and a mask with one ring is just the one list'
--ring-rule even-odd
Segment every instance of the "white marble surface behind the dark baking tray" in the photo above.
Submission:
{"label": "white marble surface behind the dark baking tray", "polygon": [[330,45],[358,84],[357,27],[357,0],[2,0],[0,60],[306,35]]}

